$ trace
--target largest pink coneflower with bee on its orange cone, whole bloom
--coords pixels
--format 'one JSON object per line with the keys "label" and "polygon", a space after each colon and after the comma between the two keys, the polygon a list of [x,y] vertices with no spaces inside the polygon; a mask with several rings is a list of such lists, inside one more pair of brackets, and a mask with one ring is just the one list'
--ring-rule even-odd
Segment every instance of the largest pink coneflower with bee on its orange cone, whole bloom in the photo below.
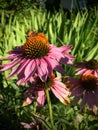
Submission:
{"label": "largest pink coneflower with bee on its orange cone, whole bloom", "polygon": [[17,84],[33,81],[33,76],[38,75],[44,82],[54,70],[65,73],[61,64],[72,64],[74,56],[67,54],[72,46],[56,47],[49,44],[46,36],[36,31],[30,31],[26,43],[9,51],[7,58],[10,63],[1,65],[0,71],[12,70],[8,78],[15,74],[18,76]]}

